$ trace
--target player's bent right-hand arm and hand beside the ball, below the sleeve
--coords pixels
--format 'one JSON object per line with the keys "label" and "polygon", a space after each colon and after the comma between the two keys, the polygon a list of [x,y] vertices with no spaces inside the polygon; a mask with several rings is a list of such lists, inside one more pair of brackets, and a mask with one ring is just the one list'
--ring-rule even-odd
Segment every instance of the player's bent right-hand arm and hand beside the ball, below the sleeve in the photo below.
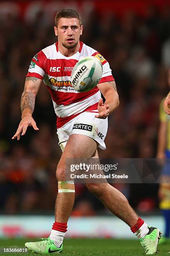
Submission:
{"label": "player's bent right-hand arm and hand beside the ball, below the sleeve", "polygon": [[119,95],[116,89],[115,81],[105,82],[97,84],[102,95],[105,97],[105,103],[100,99],[98,103],[99,115],[95,115],[96,118],[107,118],[107,116],[115,110],[119,105]]}

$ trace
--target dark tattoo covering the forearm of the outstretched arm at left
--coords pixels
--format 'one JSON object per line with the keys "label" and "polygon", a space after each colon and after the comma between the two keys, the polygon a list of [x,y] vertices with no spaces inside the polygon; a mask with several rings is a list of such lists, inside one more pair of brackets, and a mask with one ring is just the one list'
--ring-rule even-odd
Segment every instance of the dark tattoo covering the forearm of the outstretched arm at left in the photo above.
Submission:
{"label": "dark tattoo covering the forearm of the outstretched arm at left", "polygon": [[34,106],[35,106],[35,96],[33,95],[32,92],[23,92],[21,96],[21,112],[23,113],[23,110],[25,108],[30,108],[30,110],[34,111]]}

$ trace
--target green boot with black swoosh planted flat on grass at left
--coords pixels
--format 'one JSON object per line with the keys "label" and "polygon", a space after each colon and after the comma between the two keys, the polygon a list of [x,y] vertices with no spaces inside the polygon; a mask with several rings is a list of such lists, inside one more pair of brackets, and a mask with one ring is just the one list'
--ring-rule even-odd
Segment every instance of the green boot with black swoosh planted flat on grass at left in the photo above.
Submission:
{"label": "green boot with black swoosh planted flat on grass at left", "polygon": [[51,253],[61,253],[62,252],[62,245],[60,248],[55,246],[53,240],[49,238],[40,238],[42,241],[38,242],[28,242],[25,243],[25,246],[28,248],[29,251],[33,253],[40,253],[40,254],[51,254]]}

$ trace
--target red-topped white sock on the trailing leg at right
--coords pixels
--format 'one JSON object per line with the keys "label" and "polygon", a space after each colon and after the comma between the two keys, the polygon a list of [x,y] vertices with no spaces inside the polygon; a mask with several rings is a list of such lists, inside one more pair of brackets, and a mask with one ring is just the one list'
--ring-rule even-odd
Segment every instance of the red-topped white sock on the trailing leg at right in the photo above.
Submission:
{"label": "red-topped white sock on the trailing leg at right", "polygon": [[130,228],[130,230],[138,238],[144,238],[144,236],[146,236],[148,234],[148,232],[149,232],[148,225],[141,218],[138,218],[137,223],[132,228]]}

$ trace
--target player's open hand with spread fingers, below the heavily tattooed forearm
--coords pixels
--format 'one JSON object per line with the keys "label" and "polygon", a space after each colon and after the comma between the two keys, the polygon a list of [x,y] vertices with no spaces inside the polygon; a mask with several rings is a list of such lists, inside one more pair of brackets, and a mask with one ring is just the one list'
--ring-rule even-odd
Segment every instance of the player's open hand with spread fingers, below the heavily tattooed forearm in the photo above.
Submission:
{"label": "player's open hand with spread fingers, below the heavily tattooed forearm", "polygon": [[17,138],[17,140],[19,141],[20,139],[20,134],[21,136],[23,136],[26,131],[28,126],[32,126],[34,128],[35,131],[38,131],[39,129],[37,128],[37,125],[34,121],[34,119],[32,118],[31,115],[27,115],[25,116],[21,121],[20,124],[18,125],[18,129],[15,133],[15,135],[13,136],[12,140],[14,140],[15,138]]}

